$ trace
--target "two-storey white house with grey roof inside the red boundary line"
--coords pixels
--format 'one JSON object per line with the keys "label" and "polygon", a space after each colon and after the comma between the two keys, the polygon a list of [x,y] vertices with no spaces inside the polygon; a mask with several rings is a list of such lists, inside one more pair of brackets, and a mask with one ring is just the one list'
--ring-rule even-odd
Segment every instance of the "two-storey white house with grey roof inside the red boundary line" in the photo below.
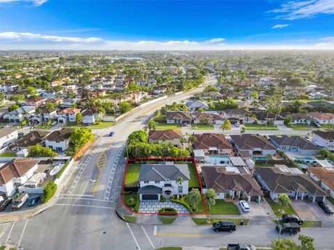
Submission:
{"label": "two-storey white house with grey roof inside the red boundary line", "polygon": [[[183,182],[177,183],[177,177]],[[190,172],[187,164],[161,162],[143,164],[139,173],[138,194],[140,200],[160,200],[161,195],[171,197],[175,194],[188,194]]]}

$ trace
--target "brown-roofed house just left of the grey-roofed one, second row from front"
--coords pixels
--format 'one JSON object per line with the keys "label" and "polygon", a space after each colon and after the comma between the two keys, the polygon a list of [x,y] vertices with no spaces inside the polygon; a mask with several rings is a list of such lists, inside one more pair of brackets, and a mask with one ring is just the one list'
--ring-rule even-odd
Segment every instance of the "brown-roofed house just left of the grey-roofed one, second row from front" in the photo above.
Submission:
{"label": "brown-roofed house just left of the grey-roofed one, second row from front", "polygon": [[261,135],[244,134],[244,135],[230,135],[232,144],[238,153],[244,157],[253,155],[267,156],[271,153],[276,154],[276,147]]}

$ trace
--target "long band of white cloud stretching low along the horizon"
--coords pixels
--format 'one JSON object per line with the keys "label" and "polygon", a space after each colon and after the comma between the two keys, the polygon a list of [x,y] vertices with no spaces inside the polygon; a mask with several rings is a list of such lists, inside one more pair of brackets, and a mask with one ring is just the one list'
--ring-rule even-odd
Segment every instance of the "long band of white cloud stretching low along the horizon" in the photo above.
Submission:
{"label": "long band of white cloud stretching low along the horizon", "polygon": [[[205,41],[192,40],[106,40],[103,38],[79,38],[38,33],[3,32],[0,33],[0,49],[76,49],[76,50],[283,50],[283,49],[334,49],[334,38],[322,38],[315,44],[228,44],[224,38]],[[224,42],[224,43],[223,43]],[[298,42],[303,42],[299,40]]]}

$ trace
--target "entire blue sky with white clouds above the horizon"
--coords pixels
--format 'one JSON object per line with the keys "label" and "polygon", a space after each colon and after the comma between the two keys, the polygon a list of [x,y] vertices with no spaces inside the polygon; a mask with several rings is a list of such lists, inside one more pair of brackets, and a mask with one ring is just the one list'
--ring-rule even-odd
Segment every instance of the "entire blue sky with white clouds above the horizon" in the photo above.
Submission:
{"label": "entire blue sky with white clouds above the horizon", "polygon": [[334,0],[0,0],[0,49],[334,49]]}

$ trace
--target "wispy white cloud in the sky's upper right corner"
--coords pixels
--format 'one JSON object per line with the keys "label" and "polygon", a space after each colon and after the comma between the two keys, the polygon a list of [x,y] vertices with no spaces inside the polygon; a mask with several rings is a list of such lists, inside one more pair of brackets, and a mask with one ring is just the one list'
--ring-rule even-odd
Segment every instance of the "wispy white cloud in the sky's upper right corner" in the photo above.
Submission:
{"label": "wispy white cloud in the sky's upper right corner", "polygon": [[276,19],[302,19],[315,17],[319,14],[334,14],[333,0],[288,1],[280,8],[269,12],[280,13]]}

